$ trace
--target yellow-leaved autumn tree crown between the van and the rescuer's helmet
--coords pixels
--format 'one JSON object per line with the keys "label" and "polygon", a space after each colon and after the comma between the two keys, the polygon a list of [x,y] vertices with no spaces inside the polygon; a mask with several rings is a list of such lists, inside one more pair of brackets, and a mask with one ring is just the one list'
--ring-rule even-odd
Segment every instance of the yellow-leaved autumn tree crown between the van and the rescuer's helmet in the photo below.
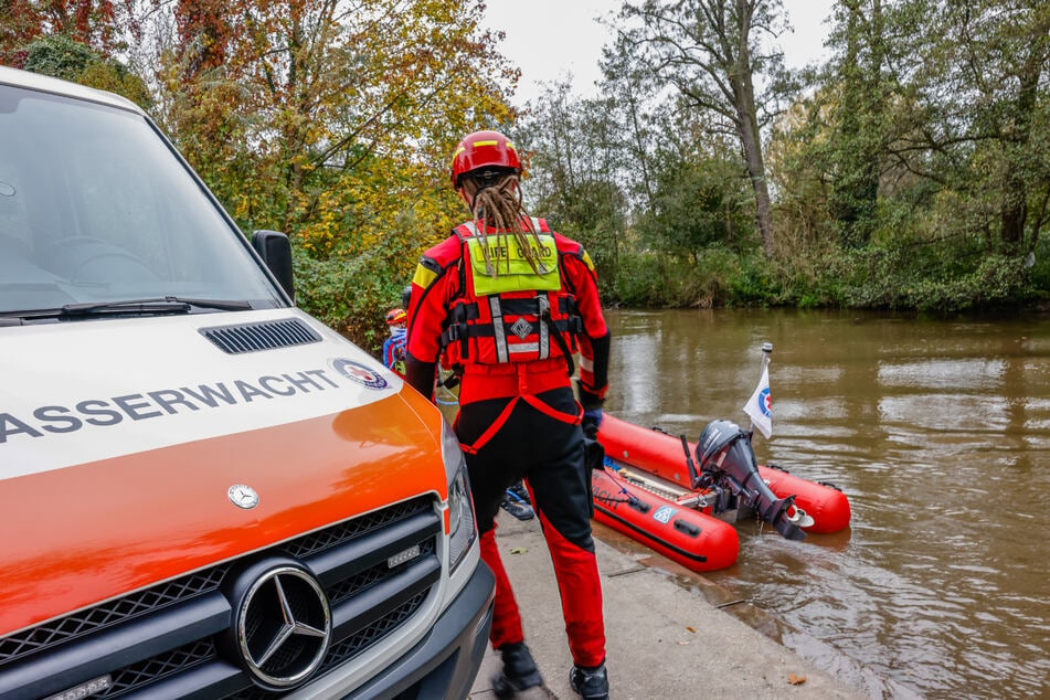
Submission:
{"label": "yellow-leaved autumn tree crown between the van and the rescuer's helmet", "polygon": [[[169,89],[178,98],[200,75],[225,109],[221,120],[177,125],[177,134],[194,138],[198,158],[206,158],[234,129],[274,178],[268,198],[242,183],[220,185],[237,215],[303,235],[319,254],[352,243],[354,210],[390,210],[412,202],[413,190],[439,187],[455,140],[510,114],[502,89],[513,75],[495,51],[497,38],[480,30],[479,2],[242,0],[224,12],[185,0],[180,11],[191,7],[195,20],[180,31],[198,34],[169,53],[177,66]],[[243,29],[231,38],[231,28]],[[184,45],[199,49],[178,50]],[[224,62],[212,68],[202,51],[221,51]],[[171,114],[185,114],[183,105]]]}

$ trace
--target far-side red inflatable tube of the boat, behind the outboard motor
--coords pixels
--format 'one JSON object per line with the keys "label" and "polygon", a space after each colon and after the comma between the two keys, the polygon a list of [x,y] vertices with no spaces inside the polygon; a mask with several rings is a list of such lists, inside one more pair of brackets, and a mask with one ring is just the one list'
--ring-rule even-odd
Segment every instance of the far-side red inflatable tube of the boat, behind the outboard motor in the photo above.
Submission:
{"label": "far-side red inflatable tube of the boat, behind the outboard motor", "polygon": [[[728,425],[735,427],[732,424]],[[701,443],[702,438],[701,435]],[[629,469],[628,474],[639,473],[640,482],[645,482],[647,477],[655,477],[653,482],[657,490],[664,482],[664,486],[669,487],[665,489],[666,495],[671,496],[675,501],[691,501],[698,503],[706,512],[712,512],[712,507],[704,505],[708,499],[702,498],[708,495],[708,488],[692,488],[690,463],[687,462],[681,438],[634,425],[606,413],[598,429],[597,439],[605,448],[606,458],[615,465]],[[750,443],[747,447],[750,450]],[[697,455],[696,443],[688,443],[688,449],[690,456]],[[697,455],[697,457],[699,460],[700,456]],[[755,466],[757,466],[761,481],[777,498],[787,499],[794,496],[793,505],[812,518],[812,524],[805,524],[808,521],[804,521],[804,524],[799,526],[802,530],[818,533],[837,532],[849,526],[849,500],[836,487],[809,481],[775,467]],[[788,505],[789,508],[791,505]]]}

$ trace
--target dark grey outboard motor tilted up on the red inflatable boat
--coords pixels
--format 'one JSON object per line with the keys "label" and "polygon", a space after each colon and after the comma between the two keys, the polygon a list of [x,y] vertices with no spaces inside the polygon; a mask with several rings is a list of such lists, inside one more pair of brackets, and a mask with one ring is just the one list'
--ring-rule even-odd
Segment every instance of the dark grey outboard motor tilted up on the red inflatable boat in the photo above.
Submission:
{"label": "dark grey outboard motor tilted up on the red inflatable boat", "polygon": [[777,498],[762,479],[751,434],[739,425],[731,421],[709,423],[697,442],[697,462],[701,479],[715,490],[728,489],[735,494],[788,540],[806,538],[799,524],[805,527],[805,521],[812,524],[812,519],[795,506],[794,496]]}

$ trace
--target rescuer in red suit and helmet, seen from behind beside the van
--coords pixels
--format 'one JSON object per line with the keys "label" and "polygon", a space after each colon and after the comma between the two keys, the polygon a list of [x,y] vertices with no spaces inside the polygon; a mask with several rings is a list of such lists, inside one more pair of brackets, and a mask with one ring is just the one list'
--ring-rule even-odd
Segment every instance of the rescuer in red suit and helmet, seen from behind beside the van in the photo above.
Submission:
{"label": "rescuer in red suit and helmet, seen from behind beside the van", "polygon": [[[524,477],[561,591],[570,683],[584,698],[604,699],[605,627],[584,429],[596,432],[602,420],[609,331],[590,256],[524,212],[520,173],[513,145],[497,131],[470,134],[456,148],[453,185],[474,219],[416,267],[405,379],[433,399],[438,360],[460,376],[455,428],[481,559],[496,574],[490,641],[503,661],[494,679],[497,696],[543,682],[496,547],[500,500]],[[579,402],[571,383],[577,352]]]}

